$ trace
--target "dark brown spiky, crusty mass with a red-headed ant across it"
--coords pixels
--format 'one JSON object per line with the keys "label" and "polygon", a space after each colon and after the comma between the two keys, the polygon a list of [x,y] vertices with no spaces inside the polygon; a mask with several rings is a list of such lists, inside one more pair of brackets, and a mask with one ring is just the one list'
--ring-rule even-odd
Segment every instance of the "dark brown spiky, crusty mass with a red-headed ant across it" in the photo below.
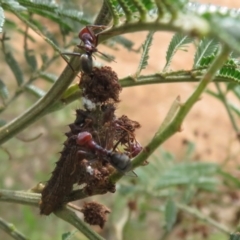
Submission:
{"label": "dark brown spiky, crusty mass with a red-headed ant across it", "polygon": [[[142,150],[135,138],[140,124],[124,115],[115,116],[121,91],[116,73],[110,67],[94,68],[91,74],[82,73],[79,87],[85,109],[78,109],[69,125],[61,157],[42,191],[41,214],[49,215],[66,204],[74,184],[83,185],[89,196],[115,192],[109,176],[116,170],[131,170],[131,158]],[[93,216],[92,211],[86,212]],[[91,216],[84,218],[87,221]],[[102,227],[104,221],[87,222]]]}

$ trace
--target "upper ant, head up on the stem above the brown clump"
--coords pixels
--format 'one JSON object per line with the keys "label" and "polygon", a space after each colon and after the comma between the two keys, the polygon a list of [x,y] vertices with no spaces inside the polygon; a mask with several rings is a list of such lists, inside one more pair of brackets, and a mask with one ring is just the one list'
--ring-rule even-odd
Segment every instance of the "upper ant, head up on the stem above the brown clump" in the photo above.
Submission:
{"label": "upper ant, head up on the stem above the brown clump", "polygon": [[[77,45],[78,48],[85,51],[85,53],[62,53],[62,55],[72,55],[72,56],[79,56],[80,57],[80,65],[83,72],[90,74],[93,69],[93,60],[92,60],[92,54],[95,52],[99,52],[97,50],[98,45],[98,34],[94,33],[95,29],[103,30],[106,26],[104,25],[90,25],[84,27],[78,34],[79,39],[82,41],[79,45]],[[107,55],[105,55],[102,52],[99,52],[104,57],[109,58]]]}

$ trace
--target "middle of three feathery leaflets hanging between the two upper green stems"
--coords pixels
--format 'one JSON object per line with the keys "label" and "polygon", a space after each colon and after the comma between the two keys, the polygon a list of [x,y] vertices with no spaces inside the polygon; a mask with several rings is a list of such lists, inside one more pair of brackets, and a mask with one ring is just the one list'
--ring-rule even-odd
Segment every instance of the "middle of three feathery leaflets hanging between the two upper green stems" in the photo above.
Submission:
{"label": "middle of three feathery leaflets hanging between the two upper green stems", "polygon": [[169,46],[168,46],[168,50],[167,50],[167,54],[166,54],[166,64],[164,66],[163,71],[167,71],[168,67],[171,64],[172,58],[174,56],[174,54],[178,51],[178,50],[183,50],[186,51],[186,44],[191,43],[193,41],[192,37],[186,36],[182,33],[176,33]]}

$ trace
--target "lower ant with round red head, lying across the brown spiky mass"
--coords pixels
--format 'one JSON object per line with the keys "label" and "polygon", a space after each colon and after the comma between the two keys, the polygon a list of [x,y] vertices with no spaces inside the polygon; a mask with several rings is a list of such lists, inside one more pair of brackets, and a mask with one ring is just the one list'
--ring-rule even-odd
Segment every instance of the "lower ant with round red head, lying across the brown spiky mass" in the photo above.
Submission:
{"label": "lower ant with round red head, lying across the brown spiky mass", "polygon": [[[77,135],[76,142],[78,145],[85,147],[94,154],[99,154],[104,157],[116,170],[125,173],[131,169],[131,160],[124,153],[117,153],[107,150],[98,145],[92,138],[89,132],[80,132]],[[84,151],[78,151],[79,154],[86,154]]]}

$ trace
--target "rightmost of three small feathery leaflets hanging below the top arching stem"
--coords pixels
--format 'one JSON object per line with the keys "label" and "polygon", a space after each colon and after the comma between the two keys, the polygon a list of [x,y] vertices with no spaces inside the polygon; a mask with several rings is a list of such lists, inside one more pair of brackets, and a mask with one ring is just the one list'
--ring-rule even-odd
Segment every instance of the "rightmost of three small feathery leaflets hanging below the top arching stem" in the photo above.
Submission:
{"label": "rightmost of three small feathery leaflets hanging below the top arching stem", "polygon": [[[203,66],[202,59],[206,56],[209,57],[209,55],[216,53],[218,46],[219,46],[219,43],[214,39],[205,38],[205,39],[201,40],[198,44],[197,51],[194,56],[193,67],[197,68],[199,66]],[[213,55],[212,55],[212,57],[213,57]]]}

